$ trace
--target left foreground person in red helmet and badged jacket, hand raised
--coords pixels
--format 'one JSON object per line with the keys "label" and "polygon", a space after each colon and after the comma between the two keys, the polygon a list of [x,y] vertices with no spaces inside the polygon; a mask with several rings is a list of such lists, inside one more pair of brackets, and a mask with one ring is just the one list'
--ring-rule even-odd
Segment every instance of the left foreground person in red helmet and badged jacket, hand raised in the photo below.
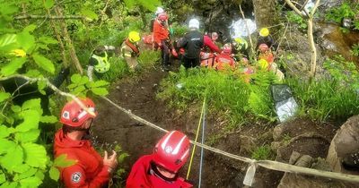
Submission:
{"label": "left foreground person in red helmet and badged jacket, hand raised", "polygon": [[60,179],[65,187],[106,187],[110,174],[118,166],[117,154],[112,151],[108,157],[105,151],[101,158],[86,139],[97,112],[90,98],[80,100],[88,111],[74,100],[66,103],[60,117],[63,127],[55,134],[55,158],[65,154],[66,159],[76,161],[73,166],[59,167]]}

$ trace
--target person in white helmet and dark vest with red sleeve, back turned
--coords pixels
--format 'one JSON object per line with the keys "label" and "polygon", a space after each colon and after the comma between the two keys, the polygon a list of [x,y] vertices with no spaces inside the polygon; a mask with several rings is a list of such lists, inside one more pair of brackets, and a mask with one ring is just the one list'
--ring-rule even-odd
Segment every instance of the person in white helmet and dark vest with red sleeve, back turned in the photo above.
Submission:
{"label": "person in white helmet and dark vest with red sleeve, back turned", "polygon": [[191,19],[188,28],[189,32],[178,43],[178,47],[185,49],[182,63],[186,69],[199,66],[202,47],[209,47],[211,50],[221,53],[221,50],[215,46],[210,37],[204,36],[198,31],[199,21],[197,19]]}

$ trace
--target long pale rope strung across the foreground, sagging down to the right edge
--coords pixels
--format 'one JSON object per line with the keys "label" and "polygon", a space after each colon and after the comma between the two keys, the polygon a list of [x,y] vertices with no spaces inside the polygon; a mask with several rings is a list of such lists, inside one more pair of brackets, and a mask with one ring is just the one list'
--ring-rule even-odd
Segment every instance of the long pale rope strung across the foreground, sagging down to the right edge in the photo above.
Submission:
{"label": "long pale rope strung across the foreground, sagging down to the right edge", "polygon": [[[105,100],[109,101],[109,103],[112,104],[114,107],[117,107],[119,110],[126,113],[131,118],[136,119],[138,122],[141,122],[143,124],[151,126],[154,129],[157,129],[157,130],[162,131],[162,132],[169,132],[169,131],[163,129],[162,127],[160,127],[160,126],[152,124],[152,123],[144,120],[143,118],[132,114],[131,111],[126,110],[123,107],[119,107],[117,104],[115,104],[111,100],[109,100],[109,98],[106,98],[106,97],[101,97],[101,98],[104,98]],[[232,153],[228,153],[228,152],[223,151],[223,150],[218,150],[218,149],[212,148],[212,147],[207,146],[207,145],[202,144],[202,143],[198,143],[197,141],[190,141],[190,142],[195,146],[204,148],[206,150],[210,150],[210,151],[212,151],[214,153],[223,155],[223,156],[225,156],[227,158],[233,158],[233,159],[245,162],[245,163],[258,165],[260,167],[265,167],[265,168],[271,169],[271,170],[287,172],[287,173],[305,174],[305,175],[317,175],[317,176],[321,176],[321,177],[327,177],[327,178],[330,178],[330,179],[337,179],[337,180],[344,180],[344,181],[359,183],[359,175],[346,175],[346,174],[328,172],[328,171],[324,171],[324,170],[317,170],[317,169],[307,168],[307,167],[297,167],[297,166],[293,166],[293,165],[289,165],[289,164],[281,163],[281,162],[277,162],[277,161],[272,161],[272,160],[255,160],[255,159],[251,159],[251,158],[244,158],[244,157],[241,157],[241,156],[234,155]]]}

